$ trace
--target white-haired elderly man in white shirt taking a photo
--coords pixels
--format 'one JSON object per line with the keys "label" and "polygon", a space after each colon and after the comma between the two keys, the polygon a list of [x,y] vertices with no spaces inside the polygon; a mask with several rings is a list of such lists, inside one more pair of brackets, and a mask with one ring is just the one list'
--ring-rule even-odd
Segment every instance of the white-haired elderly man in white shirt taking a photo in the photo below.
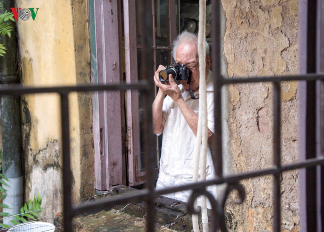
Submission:
{"label": "white-haired elderly man in white shirt taking a photo", "polygon": [[[172,75],[162,83],[159,72],[165,67],[160,65],[155,72],[154,82],[159,87],[152,105],[153,132],[163,133],[162,153],[156,189],[192,183],[193,150],[197,135],[199,110],[199,62],[198,38],[190,32],[182,32],[173,42],[174,60],[192,71],[190,83],[180,80],[176,84]],[[206,43],[206,91],[208,113],[208,139],[214,135],[214,85],[210,71],[209,46]],[[192,91],[195,97],[191,97]],[[214,177],[214,166],[210,149],[207,150],[206,179]],[[216,187],[207,188],[216,196]],[[165,195],[166,197],[187,202],[191,191]],[[210,208],[210,206],[208,207]]]}

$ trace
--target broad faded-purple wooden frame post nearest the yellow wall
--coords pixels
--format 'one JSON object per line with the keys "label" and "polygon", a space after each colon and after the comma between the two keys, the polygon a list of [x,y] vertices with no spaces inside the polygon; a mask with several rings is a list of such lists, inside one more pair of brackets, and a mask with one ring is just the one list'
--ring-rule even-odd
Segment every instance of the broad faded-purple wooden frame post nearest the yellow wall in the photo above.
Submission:
{"label": "broad faded-purple wooden frame post nearest the yellow wall", "polygon": [[[94,0],[98,84],[122,81],[120,1]],[[126,184],[123,93],[93,94],[95,187]]]}

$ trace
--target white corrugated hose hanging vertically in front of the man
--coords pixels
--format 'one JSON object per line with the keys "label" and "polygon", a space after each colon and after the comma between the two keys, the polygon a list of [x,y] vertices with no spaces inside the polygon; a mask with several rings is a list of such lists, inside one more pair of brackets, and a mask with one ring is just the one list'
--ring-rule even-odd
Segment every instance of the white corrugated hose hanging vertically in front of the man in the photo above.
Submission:
{"label": "white corrugated hose hanging vertically in front of the man", "polygon": [[[199,57],[199,115],[197,137],[194,148],[193,181],[198,181],[200,166],[200,181],[206,180],[207,159],[207,95],[206,95],[206,0],[199,1],[199,28],[198,28],[198,57]],[[199,165],[200,164],[200,165]],[[206,196],[200,196],[203,231],[208,231],[208,215]],[[195,201],[197,208],[197,201]],[[192,215],[194,232],[199,232],[198,215]]]}

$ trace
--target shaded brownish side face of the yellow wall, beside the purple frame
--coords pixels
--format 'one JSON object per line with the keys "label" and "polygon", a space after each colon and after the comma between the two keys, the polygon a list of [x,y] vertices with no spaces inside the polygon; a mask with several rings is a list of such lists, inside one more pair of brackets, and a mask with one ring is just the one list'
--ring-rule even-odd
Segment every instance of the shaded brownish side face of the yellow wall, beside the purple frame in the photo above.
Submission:
{"label": "shaded brownish side face of the yellow wall, beside the purple frame", "polygon": [[[90,84],[90,45],[88,32],[88,2],[86,0],[72,0],[72,17],[75,46],[75,75],[76,83]],[[80,15],[84,17],[80,17]],[[92,133],[92,94],[90,92],[77,93],[80,159],[79,192],[81,198],[94,194],[94,145]]]}

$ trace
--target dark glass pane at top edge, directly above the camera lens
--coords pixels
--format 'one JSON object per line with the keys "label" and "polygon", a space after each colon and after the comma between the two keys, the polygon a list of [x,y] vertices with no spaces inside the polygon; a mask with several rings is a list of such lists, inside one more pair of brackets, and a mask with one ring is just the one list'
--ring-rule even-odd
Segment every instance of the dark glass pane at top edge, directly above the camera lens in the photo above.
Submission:
{"label": "dark glass pane at top edge, directly above the camera lens", "polygon": [[[168,0],[155,0],[155,40],[157,46],[169,46]],[[175,25],[176,26],[176,25]]]}

